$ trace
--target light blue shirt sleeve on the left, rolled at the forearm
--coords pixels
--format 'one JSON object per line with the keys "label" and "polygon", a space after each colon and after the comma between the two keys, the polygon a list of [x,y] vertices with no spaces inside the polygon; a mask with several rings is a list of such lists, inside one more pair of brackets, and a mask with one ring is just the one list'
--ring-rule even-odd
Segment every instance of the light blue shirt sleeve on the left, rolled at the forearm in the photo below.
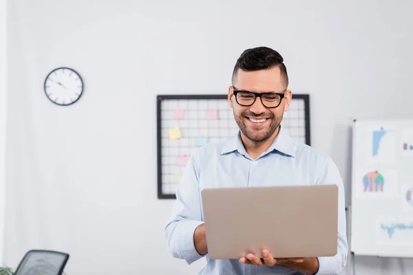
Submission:
{"label": "light blue shirt sleeve on the left, rolled at the forearm", "polygon": [[184,259],[188,264],[204,256],[198,254],[193,242],[195,229],[203,223],[199,191],[200,164],[201,155],[198,150],[191,155],[184,168],[171,217],[164,230],[173,257]]}

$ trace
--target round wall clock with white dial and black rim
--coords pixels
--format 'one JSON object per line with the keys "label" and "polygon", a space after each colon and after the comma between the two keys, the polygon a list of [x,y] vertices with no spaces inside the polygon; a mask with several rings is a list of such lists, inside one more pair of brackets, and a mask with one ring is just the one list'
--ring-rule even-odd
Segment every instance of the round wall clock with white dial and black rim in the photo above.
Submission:
{"label": "round wall clock with white dial and black rim", "polygon": [[81,98],[83,80],[74,69],[61,67],[47,75],[44,89],[47,98],[52,102],[67,106]]}

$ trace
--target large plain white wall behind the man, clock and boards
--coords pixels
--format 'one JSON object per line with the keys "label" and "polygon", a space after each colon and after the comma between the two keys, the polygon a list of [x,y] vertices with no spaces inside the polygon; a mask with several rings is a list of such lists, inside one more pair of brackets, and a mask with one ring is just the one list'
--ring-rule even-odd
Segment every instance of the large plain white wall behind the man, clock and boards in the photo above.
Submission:
{"label": "large plain white wall behind the man, clock and boards", "polygon": [[[41,247],[70,252],[68,275],[195,274],[204,262],[172,259],[162,234],[173,201],[156,199],[156,95],[226,94],[247,47],[279,50],[290,88],[311,95],[313,146],[348,203],[352,118],[413,115],[409,1],[9,3],[8,265]],[[72,107],[43,93],[59,66],[85,80]],[[397,264],[357,257],[357,274]]]}

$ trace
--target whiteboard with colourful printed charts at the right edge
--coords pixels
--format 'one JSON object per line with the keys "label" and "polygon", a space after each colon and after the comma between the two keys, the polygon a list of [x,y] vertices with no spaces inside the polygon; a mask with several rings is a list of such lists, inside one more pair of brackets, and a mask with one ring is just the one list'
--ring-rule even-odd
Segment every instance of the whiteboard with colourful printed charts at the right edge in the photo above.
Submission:
{"label": "whiteboard with colourful printed charts at the right edge", "polygon": [[355,121],[350,250],[413,257],[413,119]]}

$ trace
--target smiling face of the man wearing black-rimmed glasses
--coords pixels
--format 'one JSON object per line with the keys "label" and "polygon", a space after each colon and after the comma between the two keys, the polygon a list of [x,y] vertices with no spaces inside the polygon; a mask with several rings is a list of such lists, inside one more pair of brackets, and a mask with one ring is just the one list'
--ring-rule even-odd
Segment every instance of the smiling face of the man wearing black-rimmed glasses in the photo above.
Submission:
{"label": "smiling face of the man wearing black-rimmed glasses", "polygon": [[[259,94],[266,92],[284,93],[287,89],[279,67],[256,72],[244,72],[239,69],[233,85],[235,90],[253,91]],[[284,111],[288,110],[291,91],[286,91],[285,98],[275,108],[265,107],[258,97],[255,98],[254,104],[244,107],[237,103],[232,87],[229,87],[228,99],[233,109],[235,121],[244,136],[254,142],[262,142],[272,137],[277,131]],[[266,105],[268,106],[268,104]]]}

